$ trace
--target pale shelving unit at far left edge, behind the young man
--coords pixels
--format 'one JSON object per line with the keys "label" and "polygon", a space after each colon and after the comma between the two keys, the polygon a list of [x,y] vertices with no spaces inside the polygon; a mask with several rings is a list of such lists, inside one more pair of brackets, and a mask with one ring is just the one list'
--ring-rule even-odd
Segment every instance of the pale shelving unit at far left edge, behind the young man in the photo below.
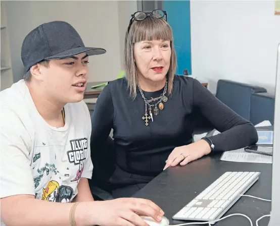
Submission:
{"label": "pale shelving unit at far left edge, behind the young man", "polygon": [[9,88],[13,84],[13,72],[11,63],[11,50],[7,28],[6,9],[3,1],[1,3],[1,77],[0,91]]}

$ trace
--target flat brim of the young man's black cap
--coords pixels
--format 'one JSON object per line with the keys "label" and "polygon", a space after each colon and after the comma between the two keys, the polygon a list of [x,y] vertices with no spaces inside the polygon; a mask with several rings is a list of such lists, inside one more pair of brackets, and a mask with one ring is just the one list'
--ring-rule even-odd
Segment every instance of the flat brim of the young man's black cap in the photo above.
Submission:
{"label": "flat brim of the young man's black cap", "polygon": [[51,55],[50,57],[47,57],[44,60],[69,58],[69,57],[73,57],[73,55],[77,55],[82,52],[86,52],[87,55],[100,55],[100,54],[104,54],[106,52],[106,50],[104,48],[75,47],[75,48],[71,48],[71,49],[65,50],[63,52],[57,53],[55,55]]}

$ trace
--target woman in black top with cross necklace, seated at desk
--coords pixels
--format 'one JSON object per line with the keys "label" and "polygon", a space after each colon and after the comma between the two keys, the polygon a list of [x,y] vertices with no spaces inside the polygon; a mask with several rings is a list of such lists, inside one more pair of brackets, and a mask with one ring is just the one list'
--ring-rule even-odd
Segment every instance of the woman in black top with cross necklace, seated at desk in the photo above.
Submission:
{"label": "woman in black top with cross necklace, seated at desk", "polygon": [[[132,15],[125,38],[126,78],[104,88],[92,117],[94,165],[111,129],[114,132],[116,169],[109,182],[116,198],[133,195],[168,166],[258,140],[255,127],[200,82],[174,75],[172,30],[164,14]],[[221,134],[192,143],[201,118]]]}

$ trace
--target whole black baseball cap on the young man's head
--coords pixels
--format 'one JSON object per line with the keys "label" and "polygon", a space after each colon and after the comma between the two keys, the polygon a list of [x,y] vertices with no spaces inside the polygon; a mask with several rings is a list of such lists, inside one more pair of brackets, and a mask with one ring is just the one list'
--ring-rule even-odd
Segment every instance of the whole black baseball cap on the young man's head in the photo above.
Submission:
{"label": "whole black baseball cap on the young man's head", "polygon": [[87,55],[99,55],[106,50],[85,47],[80,35],[70,24],[53,21],[39,25],[24,38],[21,60],[27,72],[43,60],[68,58],[82,52],[86,52]]}

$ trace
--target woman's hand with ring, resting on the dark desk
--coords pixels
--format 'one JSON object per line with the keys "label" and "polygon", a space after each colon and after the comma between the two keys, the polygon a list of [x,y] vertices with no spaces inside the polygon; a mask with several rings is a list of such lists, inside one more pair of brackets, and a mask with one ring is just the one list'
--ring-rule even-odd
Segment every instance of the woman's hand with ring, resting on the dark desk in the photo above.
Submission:
{"label": "woman's hand with ring, resting on the dark desk", "polygon": [[165,170],[168,166],[175,166],[178,163],[180,163],[180,165],[185,165],[190,161],[194,161],[206,154],[209,154],[210,152],[211,148],[205,140],[199,140],[189,145],[175,147],[168,156],[168,159],[165,161],[166,165],[163,170]]}

